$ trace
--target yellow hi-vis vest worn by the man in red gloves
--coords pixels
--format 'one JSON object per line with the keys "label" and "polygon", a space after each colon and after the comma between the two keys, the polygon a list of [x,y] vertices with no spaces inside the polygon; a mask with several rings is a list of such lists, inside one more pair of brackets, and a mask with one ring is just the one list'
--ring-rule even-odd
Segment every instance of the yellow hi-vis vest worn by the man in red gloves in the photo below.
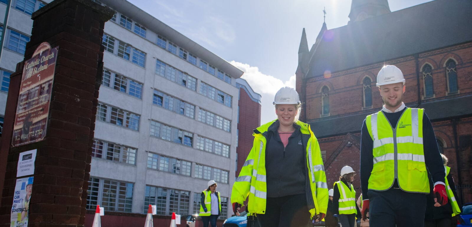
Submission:
{"label": "yellow hi-vis vest worn by the man in red gloves", "polygon": [[404,191],[430,192],[423,152],[423,111],[406,108],[395,127],[382,111],[366,117],[374,156],[369,189],[385,191],[397,179]]}

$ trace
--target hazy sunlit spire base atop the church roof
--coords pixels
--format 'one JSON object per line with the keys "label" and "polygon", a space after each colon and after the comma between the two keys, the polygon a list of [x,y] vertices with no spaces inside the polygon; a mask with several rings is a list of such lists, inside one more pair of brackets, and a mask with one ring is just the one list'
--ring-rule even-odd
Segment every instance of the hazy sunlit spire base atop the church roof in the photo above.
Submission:
{"label": "hazy sunlit spire base atop the church roof", "polygon": [[348,24],[390,12],[388,0],[352,0]]}

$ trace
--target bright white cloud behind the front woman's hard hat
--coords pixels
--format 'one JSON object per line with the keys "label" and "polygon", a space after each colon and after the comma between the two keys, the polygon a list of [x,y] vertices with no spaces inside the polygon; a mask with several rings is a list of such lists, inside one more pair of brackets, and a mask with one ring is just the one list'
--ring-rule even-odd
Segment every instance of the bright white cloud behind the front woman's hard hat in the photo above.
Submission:
{"label": "bright white cloud behind the front woman's hard hat", "polygon": [[261,94],[261,124],[274,120],[277,117],[272,105],[275,93],[285,86],[295,88],[295,74],[290,76],[287,81],[282,81],[262,73],[256,66],[236,61],[229,63],[241,69],[244,72],[241,78],[246,80],[255,92]]}

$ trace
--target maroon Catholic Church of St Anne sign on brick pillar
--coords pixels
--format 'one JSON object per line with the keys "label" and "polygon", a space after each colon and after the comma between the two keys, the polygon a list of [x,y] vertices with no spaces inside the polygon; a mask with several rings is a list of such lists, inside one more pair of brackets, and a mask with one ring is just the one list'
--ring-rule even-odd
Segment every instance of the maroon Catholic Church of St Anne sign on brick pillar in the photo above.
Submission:
{"label": "maroon Catholic Church of St Anne sign on brick pillar", "polygon": [[46,136],[58,49],[43,42],[33,57],[25,61],[13,125],[14,147],[41,141]]}

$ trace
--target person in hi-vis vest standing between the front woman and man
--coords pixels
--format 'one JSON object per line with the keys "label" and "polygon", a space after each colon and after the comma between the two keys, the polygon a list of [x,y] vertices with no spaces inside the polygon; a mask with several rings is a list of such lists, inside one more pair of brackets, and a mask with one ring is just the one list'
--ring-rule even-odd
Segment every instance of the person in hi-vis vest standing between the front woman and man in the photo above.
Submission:
{"label": "person in hi-vis vest standing between the front woman and man", "polygon": [[355,217],[361,212],[355,204],[354,175],[353,168],[346,165],[333,186],[334,211],[342,227],[355,227]]}

